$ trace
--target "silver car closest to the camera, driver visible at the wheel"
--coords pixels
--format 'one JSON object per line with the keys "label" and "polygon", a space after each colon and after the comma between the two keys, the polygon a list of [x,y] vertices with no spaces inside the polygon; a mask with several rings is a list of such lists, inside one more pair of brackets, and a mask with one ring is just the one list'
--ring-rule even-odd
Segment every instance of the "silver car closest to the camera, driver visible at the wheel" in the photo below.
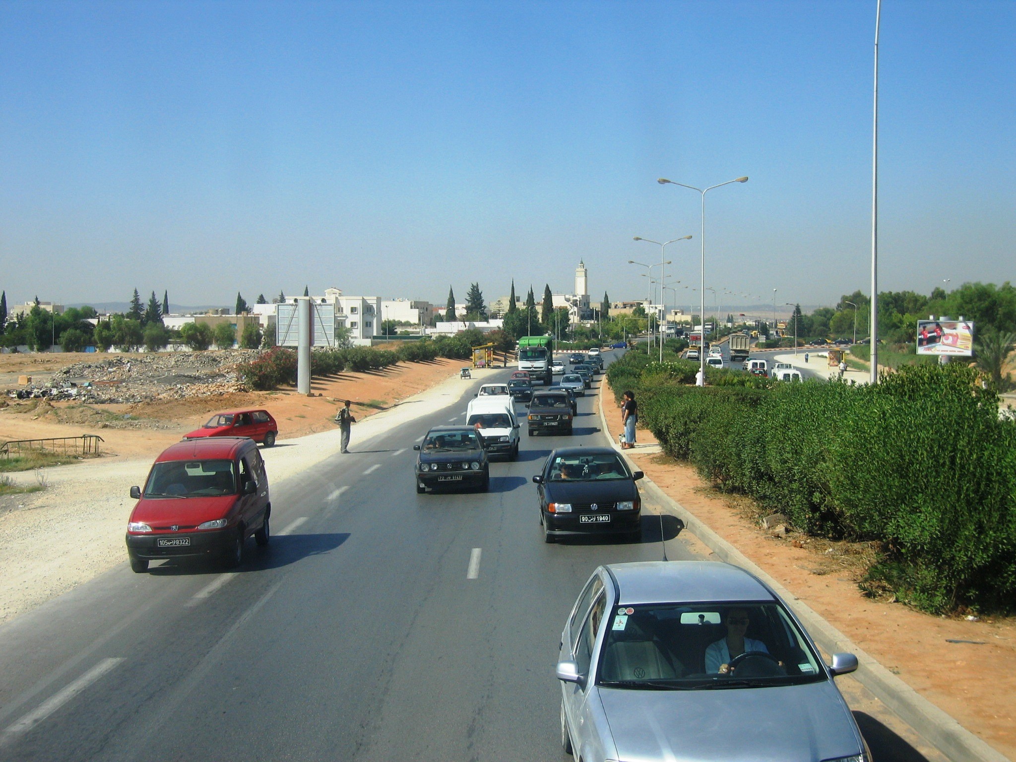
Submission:
{"label": "silver car closest to the camera, driver visible at the wheel", "polygon": [[561,744],[583,762],[870,762],[801,623],[757,577],[698,561],[596,569],[561,635]]}

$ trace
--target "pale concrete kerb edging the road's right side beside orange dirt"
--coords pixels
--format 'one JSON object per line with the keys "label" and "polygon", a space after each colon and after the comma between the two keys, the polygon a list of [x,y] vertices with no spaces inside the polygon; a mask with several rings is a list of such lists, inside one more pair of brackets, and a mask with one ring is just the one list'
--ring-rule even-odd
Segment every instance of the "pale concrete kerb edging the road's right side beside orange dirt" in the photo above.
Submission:
{"label": "pale concrete kerb edging the road's right side beside orange dirt", "polygon": [[[597,394],[601,428],[611,446],[624,456],[625,451],[610,436],[607,415],[604,412],[605,386],[606,383],[600,383]],[[841,651],[855,654],[859,666],[854,677],[858,682],[949,759],[953,762],[1010,762],[1008,757],[963,727],[952,716],[866,653],[846,635],[826,622],[737,548],[710,529],[695,514],[668,496],[652,480],[645,478],[642,484],[653,501],[681,519],[685,529],[702,541],[719,560],[747,569],[769,585],[793,610],[820,648],[830,654]]]}

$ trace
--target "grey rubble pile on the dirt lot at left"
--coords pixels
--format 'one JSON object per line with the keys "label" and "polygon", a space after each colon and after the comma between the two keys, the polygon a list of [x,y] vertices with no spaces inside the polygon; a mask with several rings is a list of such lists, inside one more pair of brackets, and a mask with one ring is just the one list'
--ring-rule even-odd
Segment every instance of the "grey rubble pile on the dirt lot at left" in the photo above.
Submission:
{"label": "grey rubble pile on the dirt lot at left", "polygon": [[88,404],[150,402],[247,391],[239,363],[258,350],[187,352],[145,357],[112,356],[75,363],[44,384],[12,389],[12,399],[75,400]]}

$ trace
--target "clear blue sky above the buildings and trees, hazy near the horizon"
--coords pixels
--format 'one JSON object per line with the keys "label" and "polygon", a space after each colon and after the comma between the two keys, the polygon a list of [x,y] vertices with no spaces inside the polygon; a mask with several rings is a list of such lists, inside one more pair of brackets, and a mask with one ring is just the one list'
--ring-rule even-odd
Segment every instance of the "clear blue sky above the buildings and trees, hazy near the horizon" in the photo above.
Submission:
{"label": "clear blue sky above the buildings and trees, hazy near the horizon", "polygon": [[[0,1],[8,302],[868,291],[874,0]],[[884,0],[880,288],[1014,277],[1016,3]],[[673,299],[673,297],[671,298]],[[729,298],[726,298],[729,299]],[[720,299],[720,302],[723,298]],[[751,302],[753,300],[737,300]]]}

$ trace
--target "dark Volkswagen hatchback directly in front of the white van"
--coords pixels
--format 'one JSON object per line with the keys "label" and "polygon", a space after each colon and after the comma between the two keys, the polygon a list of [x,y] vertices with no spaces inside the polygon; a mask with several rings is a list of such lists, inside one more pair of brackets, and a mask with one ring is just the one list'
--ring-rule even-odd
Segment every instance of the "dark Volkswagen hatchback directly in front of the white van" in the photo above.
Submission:
{"label": "dark Volkswagen hatchback directly in front of the white van", "polygon": [[487,492],[490,463],[483,437],[471,426],[435,426],[414,445],[417,458],[417,492],[435,487],[474,487]]}

